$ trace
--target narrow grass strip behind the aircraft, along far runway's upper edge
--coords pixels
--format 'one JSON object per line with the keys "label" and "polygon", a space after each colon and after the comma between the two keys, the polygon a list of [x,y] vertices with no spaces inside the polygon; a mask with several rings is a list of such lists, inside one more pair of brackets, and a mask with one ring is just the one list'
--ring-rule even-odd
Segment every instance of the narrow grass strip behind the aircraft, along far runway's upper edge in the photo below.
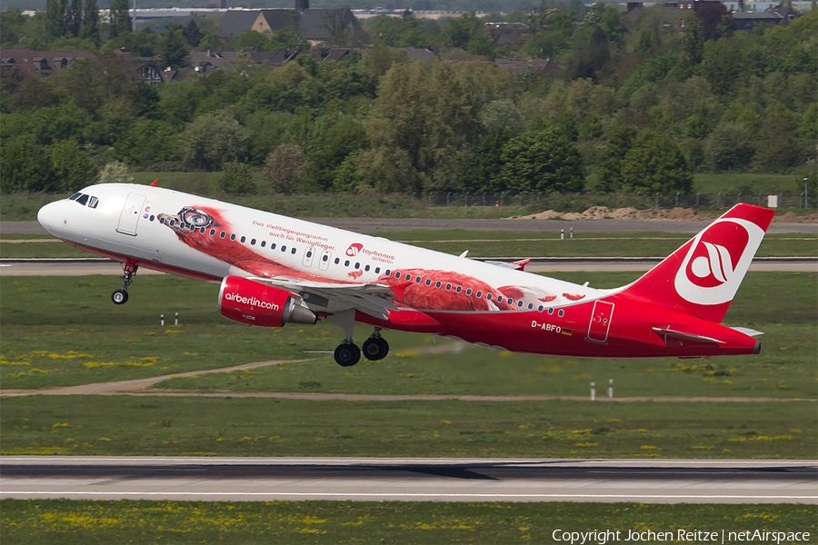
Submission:
{"label": "narrow grass strip behind the aircraft, along far runway's upper edge", "polygon": [[[560,240],[558,231],[474,232],[457,229],[397,231],[378,233],[378,236],[453,255],[469,250],[470,255],[474,257],[663,257],[673,253],[691,238],[691,234],[685,233],[574,233],[574,239]],[[95,257],[66,243],[2,242],[28,239],[55,240],[49,235],[4,234],[0,239],[0,257]],[[818,237],[814,234],[800,233],[767,234],[756,255],[759,257],[818,255]]]}

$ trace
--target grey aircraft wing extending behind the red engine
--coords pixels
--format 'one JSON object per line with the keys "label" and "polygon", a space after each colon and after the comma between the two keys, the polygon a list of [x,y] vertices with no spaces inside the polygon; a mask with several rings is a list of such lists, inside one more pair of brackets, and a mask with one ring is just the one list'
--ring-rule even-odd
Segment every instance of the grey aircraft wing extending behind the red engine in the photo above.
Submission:
{"label": "grey aircraft wing extending behind the red engine", "polygon": [[393,303],[397,287],[375,283],[315,282],[285,276],[250,276],[248,279],[300,293],[304,302],[337,311],[354,308],[374,318],[389,320],[389,312],[401,310]]}

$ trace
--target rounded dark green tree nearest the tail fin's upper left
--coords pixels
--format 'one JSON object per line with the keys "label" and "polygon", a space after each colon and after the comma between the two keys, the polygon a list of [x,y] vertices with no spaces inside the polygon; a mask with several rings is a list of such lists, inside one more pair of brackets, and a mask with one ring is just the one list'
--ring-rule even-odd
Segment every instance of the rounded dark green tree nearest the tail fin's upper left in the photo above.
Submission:
{"label": "rounded dark green tree nearest the tail fin's upper left", "polygon": [[628,193],[689,193],[693,174],[682,150],[664,134],[644,129],[622,160],[622,186]]}

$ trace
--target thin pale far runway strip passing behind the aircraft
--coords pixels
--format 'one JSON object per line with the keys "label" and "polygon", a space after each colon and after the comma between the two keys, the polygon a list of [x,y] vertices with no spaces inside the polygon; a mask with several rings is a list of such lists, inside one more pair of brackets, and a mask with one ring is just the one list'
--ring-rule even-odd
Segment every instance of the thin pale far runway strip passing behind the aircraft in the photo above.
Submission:
{"label": "thin pale far runway strip passing behind the aircraft", "polygon": [[[517,258],[491,258],[514,261]],[[618,272],[649,271],[661,257],[539,257],[525,267],[526,272]],[[751,272],[818,272],[815,257],[756,257]],[[0,259],[0,276],[119,276],[122,265],[103,258],[89,259]],[[143,274],[165,274],[141,268]]]}

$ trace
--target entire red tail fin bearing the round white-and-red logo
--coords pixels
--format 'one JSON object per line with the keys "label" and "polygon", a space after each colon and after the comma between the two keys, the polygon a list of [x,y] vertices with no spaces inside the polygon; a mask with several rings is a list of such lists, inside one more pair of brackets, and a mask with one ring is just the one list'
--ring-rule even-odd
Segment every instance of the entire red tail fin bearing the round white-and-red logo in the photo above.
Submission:
{"label": "entire red tail fin bearing the round white-and-red logo", "polygon": [[722,322],[774,213],[751,204],[736,204],[627,286],[623,294]]}

